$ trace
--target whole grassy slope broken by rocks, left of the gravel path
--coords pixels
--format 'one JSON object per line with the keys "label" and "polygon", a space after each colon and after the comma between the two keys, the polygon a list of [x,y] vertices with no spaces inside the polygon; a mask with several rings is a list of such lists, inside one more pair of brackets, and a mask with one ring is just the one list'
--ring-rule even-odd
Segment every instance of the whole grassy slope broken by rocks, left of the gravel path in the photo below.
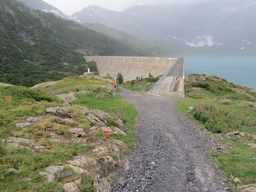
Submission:
{"label": "whole grassy slope broken by rocks, left of the gravel path", "polygon": [[[71,90],[74,87],[86,86],[86,94],[78,93],[76,96],[78,101],[76,104],[98,108],[112,114],[116,114],[117,110],[122,112],[122,119],[128,123],[127,136],[120,134],[112,135],[112,138],[120,139],[127,142],[128,147],[132,148],[133,142],[136,140],[135,124],[138,112],[130,103],[124,101],[118,94],[117,100],[113,98],[96,98],[93,90],[97,86],[106,84],[106,81],[94,80],[91,78],[70,77],[58,82],[54,86],[46,89],[29,89],[24,87],[0,87],[0,137],[7,136],[25,137],[35,139],[38,143],[48,145],[49,150],[36,150],[32,152],[30,148],[13,148],[2,145],[0,141],[0,188],[3,191],[52,191],[62,192],[62,187],[58,183],[49,184],[42,180],[42,176],[38,175],[38,171],[43,170],[48,165],[59,164],[64,160],[72,158],[78,153],[90,152],[90,146],[82,147],[80,143],[66,144],[64,142],[53,142],[42,138],[47,135],[49,127],[58,130],[61,134],[67,134],[68,125],[55,123],[56,119],[47,118],[42,123],[30,126],[28,130],[17,128],[14,120],[25,119],[29,116],[43,114],[46,108],[50,106],[64,105],[62,101],[55,97],[48,96],[46,92],[52,90]],[[100,89],[101,90],[101,89]],[[104,91],[104,90],[102,90]],[[35,101],[40,101],[36,104]],[[79,110],[74,110],[76,117],[82,114]],[[81,115],[83,116],[83,115]],[[88,129],[88,122],[81,118],[84,129]],[[70,122],[72,124],[72,122]],[[130,130],[130,131],[129,131]],[[17,168],[19,172],[13,174],[8,172],[8,168]],[[67,170],[68,171],[68,170]],[[26,182],[26,178],[31,178],[31,182]]]}

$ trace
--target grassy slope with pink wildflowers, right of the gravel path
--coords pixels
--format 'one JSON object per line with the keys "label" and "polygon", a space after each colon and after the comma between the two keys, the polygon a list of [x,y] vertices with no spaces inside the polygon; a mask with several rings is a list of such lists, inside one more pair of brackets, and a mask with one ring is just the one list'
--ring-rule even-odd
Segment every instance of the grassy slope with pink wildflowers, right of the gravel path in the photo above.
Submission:
{"label": "grassy slope with pink wildflowers, right of the gravel path", "polygon": [[[226,134],[232,131],[256,134],[256,109],[246,106],[243,101],[256,102],[256,95],[248,88],[227,83],[224,80],[214,81],[206,78],[199,81],[196,75],[186,84],[186,98],[177,101],[176,106],[180,112],[195,118],[198,122],[214,133]],[[215,77],[216,78],[216,77]],[[195,82],[193,82],[193,80]],[[192,87],[201,88],[191,90]],[[238,92],[232,89],[236,89]],[[215,98],[218,101],[214,101]],[[222,102],[230,99],[232,102]],[[194,110],[188,107],[195,107]],[[256,182],[256,149],[250,148],[246,143],[255,143],[250,138],[242,137],[238,141],[220,139],[220,144],[226,146],[228,152],[212,152],[218,168],[225,171],[229,177],[240,178],[242,184]],[[231,181],[231,180],[230,180]]]}

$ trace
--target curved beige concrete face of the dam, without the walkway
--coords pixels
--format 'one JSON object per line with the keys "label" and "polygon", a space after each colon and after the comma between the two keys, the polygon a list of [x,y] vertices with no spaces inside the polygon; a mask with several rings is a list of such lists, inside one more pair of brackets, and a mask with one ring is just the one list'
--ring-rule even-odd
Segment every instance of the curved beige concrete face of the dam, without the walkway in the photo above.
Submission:
{"label": "curved beige concrete face of the dam, without the walkway", "polygon": [[163,75],[178,58],[164,57],[122,57],[122,56],[84,56],[89,62],[94,60],[97,64],[100,76],[116,78],[118,72],[124,76],[124,81],[136,79],[136,77],[148,77],[151,73],[154,77]]}

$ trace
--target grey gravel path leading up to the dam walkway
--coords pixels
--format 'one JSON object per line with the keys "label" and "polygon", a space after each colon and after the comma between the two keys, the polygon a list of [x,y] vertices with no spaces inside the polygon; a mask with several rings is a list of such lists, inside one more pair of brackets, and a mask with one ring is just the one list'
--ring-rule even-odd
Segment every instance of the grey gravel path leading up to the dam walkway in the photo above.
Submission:
{"label": "grey gravel path leading up to the dam walkway", "polygon": [[121,92],[140,112],[138,143],[130,170],[116,175],[113,192],[226,191],[209,154],[216,141],[176,110],[177,97]]}

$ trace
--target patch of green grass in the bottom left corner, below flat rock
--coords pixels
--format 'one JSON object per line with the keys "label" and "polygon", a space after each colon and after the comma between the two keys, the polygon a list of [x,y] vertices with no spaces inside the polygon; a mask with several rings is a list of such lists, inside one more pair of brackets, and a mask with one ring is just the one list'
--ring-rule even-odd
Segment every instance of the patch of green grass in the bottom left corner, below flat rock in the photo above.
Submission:
{"label": "patch of green grass in the bottom left corner, below flat rock", "polygon": [[[78,153],[90,151],[90,146],[81,147],[80,143],[66,144],[64,142],[51,142],[42,140],[50,149],[32,152],[30,148],[3,147],[4,154],[0,164],[0,188],[6,191],[34,191],[36,186],[42,186],[44,180],[37,182],[22,182],[26,177],[36,177],[38,171],[54,164],[60,164]],[[18,174],[10,174],[6,170],[10,167],[18,168]],[[11,184],[11,185],[10,185]],[[21,189],[22,188],[22,189]]]}

